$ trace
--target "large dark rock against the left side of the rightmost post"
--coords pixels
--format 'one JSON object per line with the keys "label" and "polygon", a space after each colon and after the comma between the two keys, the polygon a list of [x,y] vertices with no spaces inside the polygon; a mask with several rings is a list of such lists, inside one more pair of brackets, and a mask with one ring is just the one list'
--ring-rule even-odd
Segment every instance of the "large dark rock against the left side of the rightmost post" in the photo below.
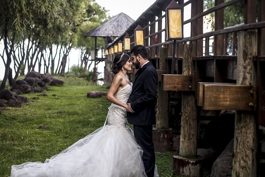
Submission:
{"label": "large dark rock against the left side of the rightmost post", "polygon": [[232,139],[225,150],[213,163],[211,177],[228,177],[232,176],[232,162],[234,156],[234,139]]}

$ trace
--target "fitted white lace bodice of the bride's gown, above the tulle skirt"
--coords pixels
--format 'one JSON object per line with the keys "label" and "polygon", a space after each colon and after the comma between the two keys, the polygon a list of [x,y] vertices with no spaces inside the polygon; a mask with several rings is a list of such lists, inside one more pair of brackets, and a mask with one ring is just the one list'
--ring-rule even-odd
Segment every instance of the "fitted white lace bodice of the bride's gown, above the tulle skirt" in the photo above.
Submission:
{"label": "fitted white lace bodice of the bride's gown, above the tulle skirt", "polygon": [[[120,89],[114,97],[123,103],[127,103],[129,96],[132,92],[132,86],[127,84],[125,87]],[[109,107],[109,112],[107,114],[107,120],[109,127],[126,127],[127,114],[124,107],[118,106],[116,104],[111,104]]]}

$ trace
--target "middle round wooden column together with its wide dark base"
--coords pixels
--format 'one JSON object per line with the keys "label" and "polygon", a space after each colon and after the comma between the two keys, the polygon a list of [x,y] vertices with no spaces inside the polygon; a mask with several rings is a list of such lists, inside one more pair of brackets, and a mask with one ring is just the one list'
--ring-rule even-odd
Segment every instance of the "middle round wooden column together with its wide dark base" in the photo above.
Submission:
{"label": "middle round wooden column together with its wide dark base", "polygon": [[[196,45],[183,45],[183,75],[195,75],[193,57]],[[182,92],[179,156],[173,156],[173,170],[178,176],[200,177],[202,158],[197,157],[197,105],[194,91]]]}

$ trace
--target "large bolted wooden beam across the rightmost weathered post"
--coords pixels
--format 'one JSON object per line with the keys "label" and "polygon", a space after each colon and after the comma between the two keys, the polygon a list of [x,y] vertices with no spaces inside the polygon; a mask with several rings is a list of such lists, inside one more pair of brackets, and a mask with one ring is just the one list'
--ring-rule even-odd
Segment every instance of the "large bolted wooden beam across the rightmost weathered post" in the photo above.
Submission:
{"label": "large bolted wooden beam across the rightmost weathered post", "polygon": [[[256,110],[256,86],[202,84],[204,110]],[[250,91],[253,94],[250,94]],[[253,107],[249,104],[253,103]]]}

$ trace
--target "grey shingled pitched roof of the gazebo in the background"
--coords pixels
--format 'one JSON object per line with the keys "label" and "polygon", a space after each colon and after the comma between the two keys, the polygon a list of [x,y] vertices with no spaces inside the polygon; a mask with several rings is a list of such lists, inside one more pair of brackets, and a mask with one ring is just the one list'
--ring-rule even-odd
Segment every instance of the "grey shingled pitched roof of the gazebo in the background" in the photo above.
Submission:
{"label": "grey shingled pitched roof of the gazebo in the background", "polygon": [[99,27],[96,27],[94,30],[88,32],[85,37],[119,37],[133,22],[134,20],[131,17],[121,12],[101,24]]}

